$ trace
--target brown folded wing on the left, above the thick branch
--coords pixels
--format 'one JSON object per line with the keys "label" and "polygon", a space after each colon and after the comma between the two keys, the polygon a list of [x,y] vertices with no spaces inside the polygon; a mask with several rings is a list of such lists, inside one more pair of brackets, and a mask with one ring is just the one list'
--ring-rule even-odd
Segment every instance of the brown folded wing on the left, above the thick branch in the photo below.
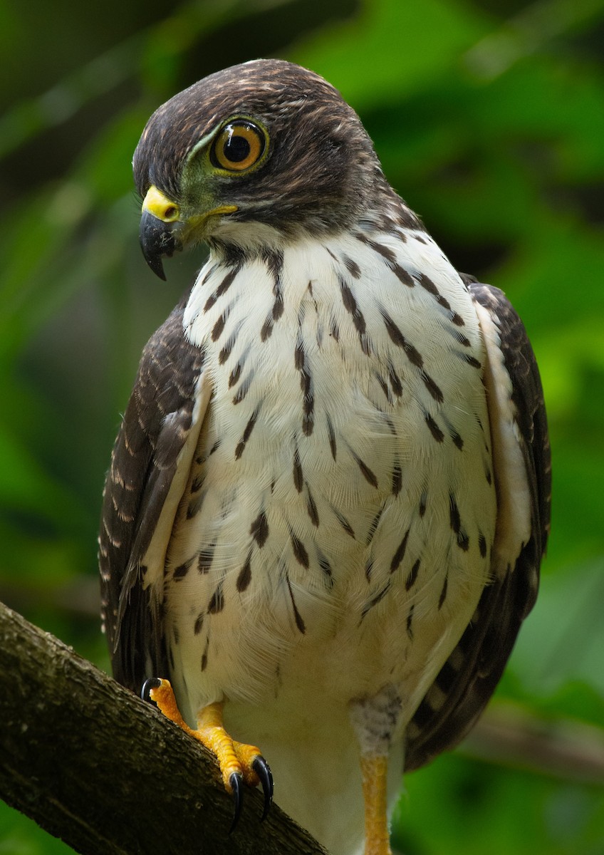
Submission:
{"label": "brown folded wing on the left, above the thick branch", "polygon": [[150,583],[145,561],[154,539],[161,541],[153,544],[155,557],[165,554],[179,499],[175,487],[182,470],[188,474],[192,451],[185,452],[196,445],[203,415],[194,419],[203,354],[185,339],[184,307],[173,310],[144,348],[103,492],[103,625],[114,677],[135,692],[146,676],[167,674],[163,580]]}

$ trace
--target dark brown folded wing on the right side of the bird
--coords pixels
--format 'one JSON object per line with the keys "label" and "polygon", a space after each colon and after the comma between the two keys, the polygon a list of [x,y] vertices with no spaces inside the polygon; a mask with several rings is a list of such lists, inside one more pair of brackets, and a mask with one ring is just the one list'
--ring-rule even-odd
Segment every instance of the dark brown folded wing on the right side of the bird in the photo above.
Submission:
{"label": "dark brown folded wing on the right side of the bird", "polygon": [[[499,333],[531,496],[531,536],[519,555],[511,557],[504,572],[485,587],[472,623],[415,712],[407,734],[407,770],[418,769],[455,746],[484,710],[512,652],[520,624],[535,603],[539,565],[549,533],[551,469],[537,361],[525,327],[505,294],[469,277],[465,280],[475,303],[489,312]],[[505,466],[505,460],[498,465]],[[498,484],[501,472],[496,469],[495,474]]]}

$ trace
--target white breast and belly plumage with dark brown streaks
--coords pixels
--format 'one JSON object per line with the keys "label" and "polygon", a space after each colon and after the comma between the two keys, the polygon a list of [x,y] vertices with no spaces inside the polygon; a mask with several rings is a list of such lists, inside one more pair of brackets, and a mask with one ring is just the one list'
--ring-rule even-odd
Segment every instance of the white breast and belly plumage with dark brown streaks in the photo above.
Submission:
{"label": "white breast and belly plumage with dark brown streaks", "polygon": [[349,700],[387,682],[403,728],[488,579],[472,300],[425,233],[380,244],[396,264],[352,237],[285,246],[277,284],[258,259],[222,292],[208,262],[185,312],[214,392],[167,554],[173,683],[192,719],[229,699],[273,765],[266,741],[302,751],[321,705],[353,739]]}

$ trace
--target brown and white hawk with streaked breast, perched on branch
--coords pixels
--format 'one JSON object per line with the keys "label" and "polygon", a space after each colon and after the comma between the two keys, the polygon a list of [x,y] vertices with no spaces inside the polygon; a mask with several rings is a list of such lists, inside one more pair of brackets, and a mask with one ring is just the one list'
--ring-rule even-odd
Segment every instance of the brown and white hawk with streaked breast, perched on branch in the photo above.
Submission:
{"label": "brown and white hawk with streaked breast, perched on branch", "polygon": [[[150,268],[205,242],[145,346],[104,492],[118,681],[334,855],[390,852],[403,769],[472,727],[535,601],[537,363],[317,74],[259,60],[157,109]],[[260,747],[255,747],[260,746]],[[266,758],[266,759],[265,759]]]}

